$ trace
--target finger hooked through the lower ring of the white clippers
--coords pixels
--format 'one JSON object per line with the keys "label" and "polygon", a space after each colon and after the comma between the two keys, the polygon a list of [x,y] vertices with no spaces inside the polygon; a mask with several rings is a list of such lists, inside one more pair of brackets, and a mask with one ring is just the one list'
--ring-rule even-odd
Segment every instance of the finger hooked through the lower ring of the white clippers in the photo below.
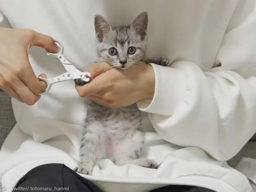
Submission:
{"label": "finger hooked through the lower ring of the white clippers", "polygon": [[25,69],[21,69],[18,73],[18,76],[26,84],[26,86],[31,90],[31,92],[33,92],[34,95],[39,95],[40,93],[43,92],[43,90],[46,89],[47,84],[44,81],[40,81],[36,77],[29,63],[24,65],[26,66]]}

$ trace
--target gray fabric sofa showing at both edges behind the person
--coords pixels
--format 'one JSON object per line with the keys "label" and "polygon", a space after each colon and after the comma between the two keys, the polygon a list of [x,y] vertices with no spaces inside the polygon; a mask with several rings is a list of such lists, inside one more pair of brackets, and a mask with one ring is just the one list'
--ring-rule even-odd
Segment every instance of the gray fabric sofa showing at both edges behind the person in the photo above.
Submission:
{"label": "gray fabric sofa showing at both edges behind the person", "polygon": [[[15,119],[13,116],[11,99],[4,92],[0,90],[0,147],[5,138],[15,125]],[[251,157],[256,159],[256,135],[243,147],[243,149],[232,159],[228,161],[228,164],[235,167],[242,157]],[[252,184],[254,192],[256,192],[256,185]],[[0,192],[2,190],[0,184]]]}

